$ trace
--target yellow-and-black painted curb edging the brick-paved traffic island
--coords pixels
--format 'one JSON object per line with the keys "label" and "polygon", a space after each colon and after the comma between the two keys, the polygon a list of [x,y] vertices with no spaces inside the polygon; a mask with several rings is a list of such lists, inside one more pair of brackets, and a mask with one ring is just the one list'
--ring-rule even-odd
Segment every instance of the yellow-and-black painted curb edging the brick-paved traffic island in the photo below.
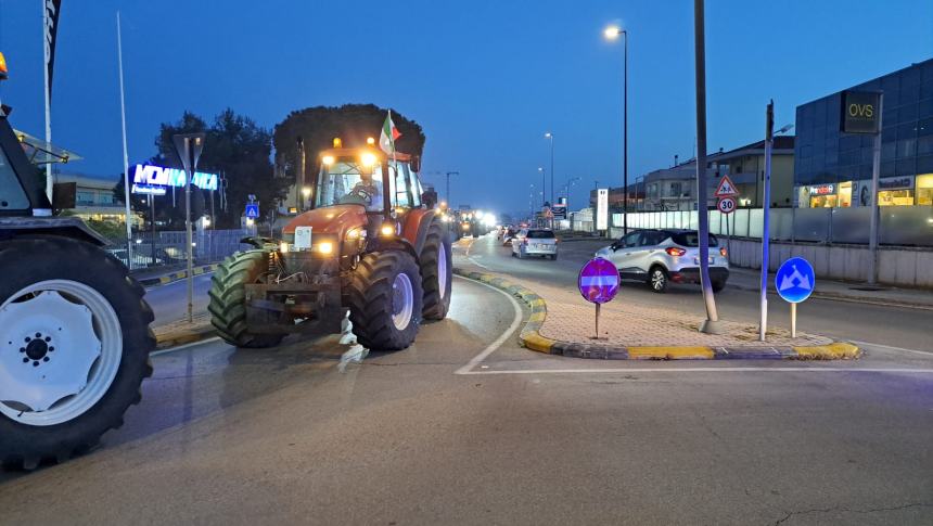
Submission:
{"label": "yellow-and-black painted curb edging the brick-paved traffic island", "polygon": [[540,333],[548,316],[547,303],[534,291],[504,278],[463,270],[459,267],[453,267],[453,273],[486,283],[522,298],[532,310],[532,316],[528,317],[528,321],[525,322],[519,334],[519,343],[527,349],[546,355],[599,360],[848,360],[861,356],[858,346],[846,342],[800,347],[624,347],[551,339]]}

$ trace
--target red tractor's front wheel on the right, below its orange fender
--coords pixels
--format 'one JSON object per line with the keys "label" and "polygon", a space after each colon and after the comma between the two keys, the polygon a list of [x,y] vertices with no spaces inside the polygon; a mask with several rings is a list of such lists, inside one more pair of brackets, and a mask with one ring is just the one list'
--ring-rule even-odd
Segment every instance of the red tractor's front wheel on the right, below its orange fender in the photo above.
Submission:
{"label": "red tractor's front wheel on the right, below its orange fender", "polygon": [[[401,298],[406,292],[407,297]],[[387,251],[362,256],[347,279],[345,293],[360,345],[371,350],[401,350],[414,342],[424,291],[421,271],[410,254]],[[399,313],[397,321],[394,315]]]}

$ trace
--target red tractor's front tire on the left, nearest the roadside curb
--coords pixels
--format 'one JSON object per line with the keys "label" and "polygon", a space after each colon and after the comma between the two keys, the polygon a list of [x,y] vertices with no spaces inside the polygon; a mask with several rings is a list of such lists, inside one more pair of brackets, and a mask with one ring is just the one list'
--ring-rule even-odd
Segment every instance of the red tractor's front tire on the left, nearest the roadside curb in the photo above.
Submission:
{"label": "red tractor's front tire on the left, nearest the roadside curb", "polygon": [[210,324],[217,335],[237,347],[263,348],[279,345],[284,334],[255,334],[246,323],[246,288],[259,283],[269,271],[269,252],[238,252],[220,264],[210,279]]}

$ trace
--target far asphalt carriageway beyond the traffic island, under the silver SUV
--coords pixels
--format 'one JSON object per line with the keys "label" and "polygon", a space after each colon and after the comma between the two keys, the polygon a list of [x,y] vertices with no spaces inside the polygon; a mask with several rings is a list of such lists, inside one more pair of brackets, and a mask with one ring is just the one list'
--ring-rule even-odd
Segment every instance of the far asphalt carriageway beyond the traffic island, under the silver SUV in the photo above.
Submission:
{"label": "far asphalt carriageway beyond the traffic island, under the silver SUV", "polygon": [[[606,242],[572,241],[561,243],[557,261],[510,257],[511,247],[501,246],[494,236],[473,242],[470,259],[496,272],[512,274],[534,283],[577,286],[577,273],[597,248]],[[790,307],[777,295],[768,296],[769,324],[790,328]],[[719,317],[726,320],[758,323],[758,293],[726,287],[716,295]],[[705,316],[699,285],[673,284],[666,294],[656,294],[648,285],[623,282],[615,302],[634,302],[652,307],[670,308]],[[933,311],[902,307],[855,304],[810,298],[797,307],[797,329],[841,339],[883,344],[933,352]],[[689,345],[689,344],[686,344]]]}

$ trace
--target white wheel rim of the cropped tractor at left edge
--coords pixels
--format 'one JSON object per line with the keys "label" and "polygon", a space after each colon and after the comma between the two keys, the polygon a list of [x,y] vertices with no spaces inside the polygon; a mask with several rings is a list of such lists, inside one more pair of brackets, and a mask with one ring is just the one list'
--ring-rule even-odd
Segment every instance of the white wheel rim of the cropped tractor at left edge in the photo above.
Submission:
{"label": "white wheel rim of the cropped tractor at left edge", "polygon": [[69,422],[103,398],[122,358],[119,318],[103,295],[76,281],[34,283],[0,306],[0,413]]}

